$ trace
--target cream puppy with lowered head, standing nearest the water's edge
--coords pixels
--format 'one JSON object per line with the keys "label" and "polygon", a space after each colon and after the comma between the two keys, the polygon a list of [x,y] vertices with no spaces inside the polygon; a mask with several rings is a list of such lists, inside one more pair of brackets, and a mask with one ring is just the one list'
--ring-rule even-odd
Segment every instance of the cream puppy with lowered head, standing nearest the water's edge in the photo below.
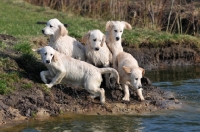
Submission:
{"label": "cream puppy with lowered head, standing nearest the water's edge", "polygon": [[131,54],[126,52],[121,52],[117,55],[116,64],[118,67],[117,71],[120,76],[120,84],[124,90],[123,100],[130,100],[128,85],[136,88],[140,100],[144,100],[142,95],[141,78],[144,75],[145,70],[140,68],[137,60]]}

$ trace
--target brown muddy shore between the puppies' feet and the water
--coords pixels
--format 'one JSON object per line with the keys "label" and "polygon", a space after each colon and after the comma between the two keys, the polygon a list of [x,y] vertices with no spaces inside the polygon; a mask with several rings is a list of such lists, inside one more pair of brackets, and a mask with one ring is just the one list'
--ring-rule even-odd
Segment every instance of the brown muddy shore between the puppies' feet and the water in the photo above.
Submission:
{"label": "brown muddy shore between the puppies' feet and the water", "polygon": [[0,95],[0,123],[46,118],[61,113],[87,115],[142,114],[161,109],[177,109],[181,103],[174,94],[155,86],[144,86],[145,101],[139,101],[136,91],[131,90],[130,102],[122,101],[123,91],[106,89],[106,104],[99,98],[91,99],[85,89],[75,90],[64,85],[56,85],[49,91],[37,87],[18,89],[11,95]]}

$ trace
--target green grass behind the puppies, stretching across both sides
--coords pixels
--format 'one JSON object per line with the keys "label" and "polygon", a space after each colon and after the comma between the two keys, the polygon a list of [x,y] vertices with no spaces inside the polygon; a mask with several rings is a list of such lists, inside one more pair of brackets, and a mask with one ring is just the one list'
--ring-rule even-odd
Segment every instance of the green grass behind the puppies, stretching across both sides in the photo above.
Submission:
{"label": "green grass behind the puppies, stretching across both sides", "polygon": [[[0,3],[0,32],[13,35],[19,39],[26,38],[29,43],[31,37],[43,36],[41,30],[44,25],[37,25],[37,21],[48,21],[51,18],[58,18],[61,22],[69,24],[69,35],[80,39],[92,29],[100,29],[105,33],[106,21],[94,20],[86,17],[75,16],[70,12],[64,13],[50,10],[48,7],[38,7],[25,3],[22,0],[2,0]],[[166,42],[177,41],[197,41],[200,40],[189,35],[168,34],[149,29],[134,28],[131,31],[124,31],[123,38],[130,46],[140,45],[141,43],[151,43],[162,45]],[[187,39],[184,39],[187,38]],[[189,39],[189,40],[188,40]]]}

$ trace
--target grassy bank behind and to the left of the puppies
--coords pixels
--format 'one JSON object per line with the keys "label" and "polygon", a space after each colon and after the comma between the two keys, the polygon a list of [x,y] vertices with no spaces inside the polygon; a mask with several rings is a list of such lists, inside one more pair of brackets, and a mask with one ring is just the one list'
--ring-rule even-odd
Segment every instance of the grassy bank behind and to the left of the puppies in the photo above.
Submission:
{"label": "grassy bank behind and to the left of the puppies", "polygon": [[[41,33],[45,25],[37,21],[48,21],[58,18],[69,24],[69,35],[81,39],[92,29],[105,32],[106,21],[74,16],[73,13],[63,13],[50,10],[47,7],[37,7],[22,0],[1,0],[0,2],[0,34],[13,37],[0,39],[0,94],[12,92],[17,88],[42,87],[39,72],[45,67],[38,62],[31,48],[47,44],[47,38]],[[200,39],[189,35],[168,34],[148,29],[134,28],[123,34],[124,44],[139,47],[141,44],[162,46],[168,43],[192,43],[200,47]]]}

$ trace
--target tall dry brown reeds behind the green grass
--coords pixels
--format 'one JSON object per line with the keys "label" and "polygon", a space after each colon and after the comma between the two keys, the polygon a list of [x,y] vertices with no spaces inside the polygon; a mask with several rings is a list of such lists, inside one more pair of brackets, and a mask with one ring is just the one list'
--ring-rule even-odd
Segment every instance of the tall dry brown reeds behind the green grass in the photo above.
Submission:
{"label": "tall dry brown reeds behind the green grass", "polygon": [[199,2],[186,0],[26,0],[32,4],[136,27],[199,34]]}

